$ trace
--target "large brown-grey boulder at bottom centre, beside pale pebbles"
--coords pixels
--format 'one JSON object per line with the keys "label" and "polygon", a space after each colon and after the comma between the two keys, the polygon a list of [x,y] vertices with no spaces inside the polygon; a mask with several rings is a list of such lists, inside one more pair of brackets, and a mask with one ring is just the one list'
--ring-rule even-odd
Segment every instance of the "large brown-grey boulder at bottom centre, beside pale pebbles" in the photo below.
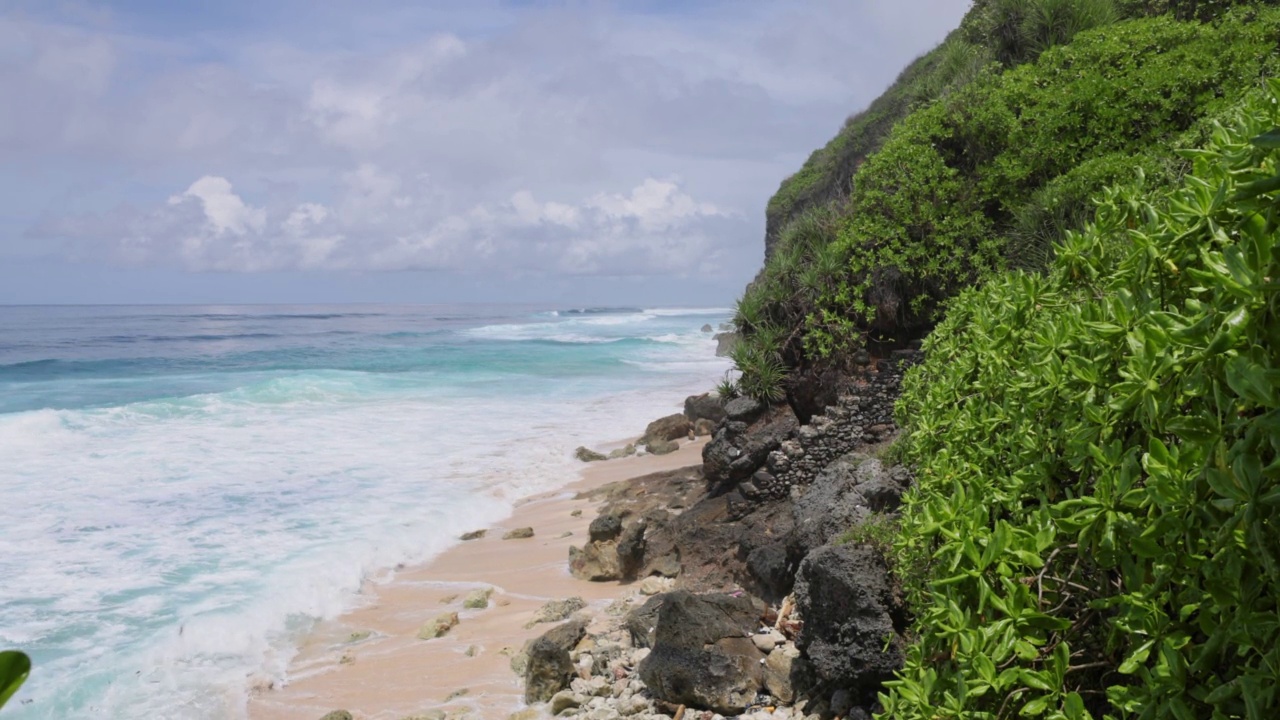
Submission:
{"label": "large brown-grey boulder at bottom centre, beside pale pebbles", "polygon": [[672,705],[724,715],[751,705],[764,660],[750,639],[760,618],[756,606],[745,597],[685,591],[650,602],[658,606],[653,652],[639,667],[649,691]]}

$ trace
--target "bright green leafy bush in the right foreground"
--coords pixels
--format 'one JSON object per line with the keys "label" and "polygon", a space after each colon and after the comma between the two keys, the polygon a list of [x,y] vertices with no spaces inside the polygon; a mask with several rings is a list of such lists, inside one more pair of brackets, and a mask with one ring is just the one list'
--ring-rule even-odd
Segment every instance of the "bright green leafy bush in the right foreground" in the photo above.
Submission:
{"label": "bright green leafy bush in the right foreground", "polygon": [[1280,716],[1280,82],[1234,118],[925,342],[883,717]]}

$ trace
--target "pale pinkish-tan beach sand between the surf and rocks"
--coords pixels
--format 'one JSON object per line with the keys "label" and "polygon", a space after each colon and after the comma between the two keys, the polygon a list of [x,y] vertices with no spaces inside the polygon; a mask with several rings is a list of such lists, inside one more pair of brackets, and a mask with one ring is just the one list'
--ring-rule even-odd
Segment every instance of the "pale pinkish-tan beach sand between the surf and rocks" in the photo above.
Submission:
{"label": "pale pinkish-tan beach sand between the surf and rocks", "polygon": [[[319,720],[340,708],[357,720],[402,720],[431,710],[471,708],[472,717],[504,720],[524,707],[524,684],[511,669],[511,655],[554,626],[525,626],[538,609],[550,600],[579,596],[594,615],[603,616],[613,600],[636,592],[635,584],[589,583],[570,575],[568,548],[586,542],[596,505],[575,496],[698,465],[705,439],[684,443],[671,455],[588,465],[572,484],[522,501],[509,519],[488,528],[484,538],[403,569],[388,583],[369,583],[362,591],[366,602],[308,635],[284,687],[251,693],[248,716]],[[577,516],[572,515],[576,510],[581,510]],[[532,538],[502,539],[504,532],[524,527],[534,529]],[[488,587],[494,589],[488,609],[462,607],[468,592]],[[424,623],[445,612],[458,614],[457,626],[440,638],[417,638]],[[371,634],[360,639],[365,633]]]}

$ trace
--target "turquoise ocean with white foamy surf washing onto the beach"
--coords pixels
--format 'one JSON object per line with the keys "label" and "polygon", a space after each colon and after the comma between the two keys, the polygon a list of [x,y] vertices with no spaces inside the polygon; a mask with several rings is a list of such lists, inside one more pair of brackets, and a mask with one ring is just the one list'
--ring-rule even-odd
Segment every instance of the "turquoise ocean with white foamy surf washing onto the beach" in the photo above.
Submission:
{"label": "turquoise ocean with white foamy surf washing onto the beach", "polygon": [[5,719],[223,719],[365,578],[728,369],[728,310],[0,307]]}

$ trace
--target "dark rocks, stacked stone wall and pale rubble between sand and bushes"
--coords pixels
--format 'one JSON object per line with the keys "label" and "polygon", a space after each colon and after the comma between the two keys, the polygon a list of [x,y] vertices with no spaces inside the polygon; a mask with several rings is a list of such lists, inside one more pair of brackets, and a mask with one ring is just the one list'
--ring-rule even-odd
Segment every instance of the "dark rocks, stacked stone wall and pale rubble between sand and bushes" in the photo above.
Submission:
{"label": "dark rocks, stacked stone wall and pale rubble between sand and bushes", "polygon": [[684,423],[650,425],[641,443],[714,418],[703,465],[589,493],[604,502],[568,557],[580,579],[639,582],[649,597],[531,642],[529,707],[512,720],[870,717],[909,618],[859,529],[891,521],[911,483],[886,450],[916,359],[868,359],[805,424],[788,406],[696,396]]}

